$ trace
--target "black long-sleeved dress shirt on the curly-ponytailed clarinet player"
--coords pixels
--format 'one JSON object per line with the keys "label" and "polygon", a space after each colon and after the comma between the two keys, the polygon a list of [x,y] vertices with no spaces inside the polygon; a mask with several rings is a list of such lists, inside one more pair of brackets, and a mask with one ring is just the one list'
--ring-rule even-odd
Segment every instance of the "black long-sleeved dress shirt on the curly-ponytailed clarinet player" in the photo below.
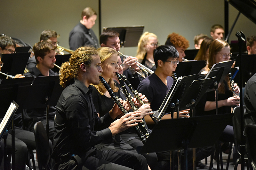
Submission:
{"label": "black long-sleeved dress shirt on the curly-ponytailed clarinet player", "polygon": [[53,158],[86,152],[106,139],[112,138],[109,128],[113,119],[109,112],[98,117],[92,103],[92,87],[89,89],[79,80],[66,87],[56,106]]}

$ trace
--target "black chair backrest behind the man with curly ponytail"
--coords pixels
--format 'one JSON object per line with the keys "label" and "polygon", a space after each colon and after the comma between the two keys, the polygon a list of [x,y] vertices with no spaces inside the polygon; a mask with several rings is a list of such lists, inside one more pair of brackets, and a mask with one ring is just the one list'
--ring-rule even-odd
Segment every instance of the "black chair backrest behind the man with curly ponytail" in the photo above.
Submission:
{"label": "black chair backrest behind the man with curly ponytail", "polygon": [[36,124],[34,125],[34,130],[38,168],[39,170],[43,170],[48,167],[51,155],[49,139],[44,129],[44,125],[41,121],[36,122]]}

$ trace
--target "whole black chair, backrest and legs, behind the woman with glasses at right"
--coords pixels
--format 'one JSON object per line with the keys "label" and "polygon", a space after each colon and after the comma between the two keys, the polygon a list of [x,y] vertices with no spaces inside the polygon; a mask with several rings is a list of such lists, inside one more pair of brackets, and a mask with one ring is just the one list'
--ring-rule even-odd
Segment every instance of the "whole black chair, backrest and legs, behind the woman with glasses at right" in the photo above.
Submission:
{"label": "whole black chair, backrest and legs, behind the woman with glasses at right", "polygon": [[[243,106],[243,110],[245,111],[245,107]],[[240,117],[240,106],[237,106],[233,110],[234,116],[232,118],[233,121],[233,129],[234,129],[234,138],[235,138],[235,146],[236,151],[239,153],[239,158],[236,160],[235,170],[237,169],[238,163],[241,160],[241,153],[240,153],[240,145],[242,143],[242,138],[245,139],[245,136],[241,136],[241,117]],[[243,120],[244,121],[244,120]],[[249,169],[248,164],[248,157],[244,155],[244,160],[246,161],[247,169]]]}

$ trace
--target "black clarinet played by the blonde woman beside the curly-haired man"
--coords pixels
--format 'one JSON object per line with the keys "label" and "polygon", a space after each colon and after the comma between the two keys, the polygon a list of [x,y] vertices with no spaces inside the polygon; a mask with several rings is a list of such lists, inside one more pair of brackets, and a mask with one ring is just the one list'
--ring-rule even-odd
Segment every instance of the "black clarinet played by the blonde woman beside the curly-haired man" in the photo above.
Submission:
{"label": "black clarinet played by the blonde woman beside the curly-haired man", "polygon": [[[138,108],[133,103],[132,96],[128,92],[128,90],[127,90],[127,88],[126,88],[126,86],[124,84],[123,79],[121,78],[120,74],[117,73],[117,72],[116,72],[116,77],[117,77],[118,81],[120,82],[120,85],[121,85],[121,87],[122,87],[122,89],[124,91],[124,95],[125,95],[127,101],[130,103],[130,105],[132,107],[132,110],[133,111],[138,111]],[[149,137],[149,132],[148,132],[147,126],[146,126],[146,124],[145,124],[143,119],[140,119],[140,120],[142,120],[142,122],[138,122],[138,125],[140,126],[141,131],[145,134],[146,138],[148,138]]]}

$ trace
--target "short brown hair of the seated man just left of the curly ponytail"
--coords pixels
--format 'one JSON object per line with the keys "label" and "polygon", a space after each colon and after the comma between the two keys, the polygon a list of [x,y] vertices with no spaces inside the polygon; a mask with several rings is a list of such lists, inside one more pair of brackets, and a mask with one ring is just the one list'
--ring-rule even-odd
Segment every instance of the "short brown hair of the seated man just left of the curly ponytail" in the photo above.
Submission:
{"label": "short brown hair of the seated man just left of the curly ponytail", "polygon": [[52,45],[52,43],[47,42],[47,41],[40,41],[38,43],[36,43],[33,46],[33,51],[35,53],[35,58],[36,58],[36,63],[39,63],[39,61],[37,60],[37,57],[41,57],[42,59],[44,59],[44,56],[47,53],[50,53],[50,51],[55,50],[56,47]]}

